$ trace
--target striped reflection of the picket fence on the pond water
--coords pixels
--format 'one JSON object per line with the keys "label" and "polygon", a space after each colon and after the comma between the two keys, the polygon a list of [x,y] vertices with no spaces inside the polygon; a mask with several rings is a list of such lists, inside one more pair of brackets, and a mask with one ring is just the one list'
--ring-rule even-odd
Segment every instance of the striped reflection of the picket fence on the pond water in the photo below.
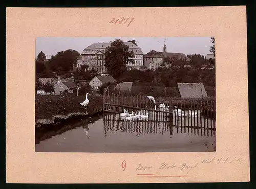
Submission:
{"label": "striped reflection of the picket fence on the pond water", "polygon": [[190,122],[190,117],[179,117],[178,119],[175,117],[172,117],[172,119],[169,117],[163,118],[164,116],[159,116],[160,119],[158,119],[158,117],[153,115],[150,117],[151,119],[148,121],[136,120],[125,122],[119,114],[104,114],[104,129],[111,134],[121,131],[137,133],[137,136],[143,136],[145,134],[162,135],[165,132],[169,132],[171,138],[174,128],[176,128],[177,133],[188,133],[188,135],[215,136],[216,133],[215,127],[205,127],[205,124],[203,126],[193,121]]}

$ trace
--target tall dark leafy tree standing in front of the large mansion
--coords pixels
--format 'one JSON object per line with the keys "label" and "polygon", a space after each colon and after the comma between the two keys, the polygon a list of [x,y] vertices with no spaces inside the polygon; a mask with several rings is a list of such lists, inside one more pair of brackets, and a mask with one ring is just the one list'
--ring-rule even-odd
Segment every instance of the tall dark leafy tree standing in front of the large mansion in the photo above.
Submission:
{"label": "tall dark leafy tree standing in front of the large mansion", "polygon": [[114,78],[118,78],[126,70],[126,64],[135,64],[133,51],[129,51],[129,46],[125,45],[120,39],[117,39],[106,48],[105,65],[108,73]]}

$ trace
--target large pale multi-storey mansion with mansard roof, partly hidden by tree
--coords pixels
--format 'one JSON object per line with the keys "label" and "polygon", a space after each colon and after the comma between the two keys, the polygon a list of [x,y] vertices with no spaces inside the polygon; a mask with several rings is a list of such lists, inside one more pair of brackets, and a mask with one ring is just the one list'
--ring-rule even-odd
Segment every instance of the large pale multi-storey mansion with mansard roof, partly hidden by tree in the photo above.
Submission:
{"label": "large pale multi-storey mansion with mansard roof, partly hidden by tree", "polygon": [[[143,66],[143,53],[141,49],[132,42],[124,42],[125,45],[129,46],[129,51],[134,52],[134,63],[126,64],[127,69],[140,69]],[[77,64],[74,68],[80,69],[81,65],[88,65],[87,69],[94,69],[98,73],[106,73],[105,64],[105,51],[111,42],[93,43],[83,50],[81,57],[77,59]]]}

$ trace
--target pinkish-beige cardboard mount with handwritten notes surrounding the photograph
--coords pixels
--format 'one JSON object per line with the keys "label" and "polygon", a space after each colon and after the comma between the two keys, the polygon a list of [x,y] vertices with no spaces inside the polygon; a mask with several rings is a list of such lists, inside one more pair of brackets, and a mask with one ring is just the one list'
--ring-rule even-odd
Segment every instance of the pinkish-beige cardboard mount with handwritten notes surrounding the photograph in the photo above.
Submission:
{"label": "pinkish-beige cardboard mount with handwritten notes surrounding the photograph", "polygon": [[[245,6],[7,8],[6,11],[6,180],[8,183],[249,181]],[[113,18],[120,20],[123,17],[131,17],[134,20],[129,26],[127,26],[129,21],[125,24],[110,23]],[[35,38],[47,36],[215,36],[217,151],[36,153]],[[203,161],[206,159],[207,161]],[[159,167],[163,162],[168,163],[169,166],[175,163],[177,167],[161,170]],[[136,170],[140,163],[144,167],[152,168]]]}

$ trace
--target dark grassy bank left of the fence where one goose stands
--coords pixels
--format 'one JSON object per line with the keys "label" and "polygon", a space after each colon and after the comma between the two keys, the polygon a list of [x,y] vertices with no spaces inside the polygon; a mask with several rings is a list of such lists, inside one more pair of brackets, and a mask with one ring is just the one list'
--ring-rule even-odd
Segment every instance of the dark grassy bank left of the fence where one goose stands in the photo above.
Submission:
{"label": "dark grassy bank left of the fence where one goose stands", "polygon": [[86,99],[85,96],[35,96],[35,126],[53,124],[58,120],[66,120],[75,115],[95,114],[102,111],[102,96],[89,95],[88,109],[80,105]]}

